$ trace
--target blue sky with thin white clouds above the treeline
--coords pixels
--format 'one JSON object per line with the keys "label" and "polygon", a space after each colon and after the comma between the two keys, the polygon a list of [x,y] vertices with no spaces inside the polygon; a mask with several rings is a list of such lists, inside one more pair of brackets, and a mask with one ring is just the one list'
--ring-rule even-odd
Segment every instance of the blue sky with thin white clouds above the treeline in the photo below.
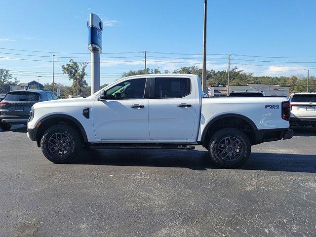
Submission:
{"label": "blue sky with thin white clouds above the treeline", "polygon": [[[207,53],[224,54],[209,55],[208,69],[226,69],[227,53],[316,57],[315,9],[314,0],[208,0]],[[89,61],[86,21],[91,12],[98,14],[105,26],[102,84],[119,78],[122,72],[144,68],[144,50],[148,51],[149,68],[173,71],[181,66],[201,66],[203,0],[1,1],[0,48],[56,52],[55,81],[70,84],[60,74],[61,65],[71,57]],[[124,53],[107,54],[112,52]],[[51,82],[52,54],[0,49],[0,68],[12,70],[21,82],[38,79],[36,76],[41,76],[41,83]],[[254,75],[306,75],[304,69],[316,67],[316,58],[232,55],[232,64]],[[310,75],[315,70],[311,69]]]}

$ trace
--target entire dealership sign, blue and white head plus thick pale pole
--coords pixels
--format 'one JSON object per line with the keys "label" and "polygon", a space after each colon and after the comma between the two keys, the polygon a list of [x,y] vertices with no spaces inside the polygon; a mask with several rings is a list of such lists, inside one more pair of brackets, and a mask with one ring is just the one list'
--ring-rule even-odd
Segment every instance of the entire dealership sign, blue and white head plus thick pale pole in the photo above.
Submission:
{"label": "entire dealership sign, blue and white head plus thick pale pole", "polygon": [[102,52],[103,23],[96,14],[90,13],[88,20],[89,40],[91,51],[91,95],[100,89],[100,53]]}

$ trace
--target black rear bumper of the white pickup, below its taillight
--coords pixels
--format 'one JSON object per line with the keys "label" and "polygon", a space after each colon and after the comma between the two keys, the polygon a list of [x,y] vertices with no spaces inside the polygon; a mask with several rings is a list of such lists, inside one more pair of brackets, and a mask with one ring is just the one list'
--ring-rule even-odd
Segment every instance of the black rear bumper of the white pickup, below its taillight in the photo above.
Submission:
{"label": "black rear bumper of the white pickup, below its taillight", "polygon": [[281,139],[290,139],[293,137],[293,130],[289,128],[262,129],[256,131],[256,142],[252,145],[277,141]]}

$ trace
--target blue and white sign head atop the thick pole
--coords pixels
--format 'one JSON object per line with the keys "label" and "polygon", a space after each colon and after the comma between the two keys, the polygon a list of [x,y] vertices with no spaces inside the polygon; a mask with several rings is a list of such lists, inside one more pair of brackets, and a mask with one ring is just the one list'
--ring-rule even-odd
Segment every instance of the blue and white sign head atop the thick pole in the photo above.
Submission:
{"label": "blue and white sign head atop the thick pole", "polygon": [[88,21],[88,48],[90,51],[99,50],[99,53],[102,52],[102,30],[103,23],[96,14],[90,13]]}

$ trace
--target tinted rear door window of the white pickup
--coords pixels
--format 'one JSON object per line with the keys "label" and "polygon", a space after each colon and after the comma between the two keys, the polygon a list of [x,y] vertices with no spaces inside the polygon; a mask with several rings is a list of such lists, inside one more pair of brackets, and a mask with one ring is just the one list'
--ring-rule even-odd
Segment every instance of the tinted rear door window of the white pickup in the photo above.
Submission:
{"label": "tinted rear door window of the white pickup", "polygon": [[191,93],[188,78],[155,78],[155,91],[151,98],[181,98]]}

